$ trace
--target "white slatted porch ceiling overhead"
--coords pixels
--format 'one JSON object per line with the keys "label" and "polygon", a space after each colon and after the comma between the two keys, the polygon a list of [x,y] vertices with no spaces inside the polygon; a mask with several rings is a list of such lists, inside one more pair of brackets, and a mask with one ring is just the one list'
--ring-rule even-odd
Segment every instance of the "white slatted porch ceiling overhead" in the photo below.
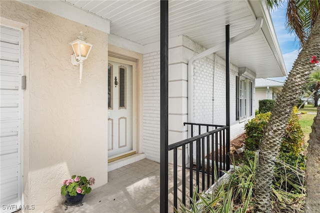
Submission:
{"label": "white slatted porch ceiling overhead", "polygon": [[[159,40],[159,0],[64,0],[85,12],[110,20],[110,33],[145,45]],[[169,37],[185,35],[205,48],[233,37],[263,17],[257,33],[230,45],[230,61],[248,67],[256,77],[286,75],[281,51],[264,0],[169,0]],[[225,50],[217,51],[224,57]]]}

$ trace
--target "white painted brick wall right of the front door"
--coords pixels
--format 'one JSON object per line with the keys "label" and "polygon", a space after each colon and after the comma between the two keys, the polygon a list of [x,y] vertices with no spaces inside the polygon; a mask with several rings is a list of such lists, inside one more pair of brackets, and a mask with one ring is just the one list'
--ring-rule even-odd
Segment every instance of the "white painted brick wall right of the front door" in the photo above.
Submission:
{"label": "white painted brick wall right of the front door", "polygon": [[[182,39],[182,44],[181,44]],[[172,43],[172,42],[171,42]],[[203,49],[185,36],[176,37],[169,49],[169,143],[187,135],[187,62]],[[151,49],[151,48],[150,48]],[[211,54],[193,63],[194,122],[225,124],[225,61]],[[143,151],[148,159],[159,161],[160,66],[159,51],[143,55]],[[215,66],[213,68],[213,66]],[[213,75],[214,69],[214,75]],[[238,68],[230,64],[231,138],[243,132],[244,122],[235,120],[235,76]],[[212,98],[214,101],[212,101]]]}

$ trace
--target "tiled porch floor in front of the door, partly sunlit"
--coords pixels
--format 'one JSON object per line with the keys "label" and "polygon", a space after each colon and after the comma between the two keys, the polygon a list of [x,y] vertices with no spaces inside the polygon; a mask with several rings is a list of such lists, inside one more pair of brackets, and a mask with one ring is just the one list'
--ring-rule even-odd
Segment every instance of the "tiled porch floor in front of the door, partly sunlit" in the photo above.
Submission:
{"label": "tiled porch floor in front of the door, partly sunlit", "polygon": [[[64,205],[61,204],[45,213],[159,212],[159,194],[160,164],[149,159],[142,159],[109,171],[108,183],[86,194],[83,197],[82,206],[69,207],[64,210]],[[172,206],[172,204],[169,205]],[[172,207],[169,207],[168,210],[173,212]]]}

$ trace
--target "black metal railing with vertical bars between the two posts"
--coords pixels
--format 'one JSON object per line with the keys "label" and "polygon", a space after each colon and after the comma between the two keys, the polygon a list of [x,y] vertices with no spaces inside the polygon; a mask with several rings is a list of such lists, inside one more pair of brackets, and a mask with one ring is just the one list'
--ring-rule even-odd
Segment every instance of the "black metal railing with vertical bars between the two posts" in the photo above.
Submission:
{"label": "black metal railing with vertical bars between the two posts", "polygon": [[[196,188],[197,192],[207,190],[222,176],[223,171],[230,168],[226,152],[229,150],[226,148],[229,146],[226,139],[228,126],[189,122],[183,124],[190,125],[191,137],[168,145],[169,154],[173,150],[173,174],[169,174],[171,180],[173,176],[173,187],[168,192],[173,193],[172,204],[175,208],[178,198],[184,205],[190,204],[189,197],[192,197]],[[197,131],[193,132],[195,129]]]}

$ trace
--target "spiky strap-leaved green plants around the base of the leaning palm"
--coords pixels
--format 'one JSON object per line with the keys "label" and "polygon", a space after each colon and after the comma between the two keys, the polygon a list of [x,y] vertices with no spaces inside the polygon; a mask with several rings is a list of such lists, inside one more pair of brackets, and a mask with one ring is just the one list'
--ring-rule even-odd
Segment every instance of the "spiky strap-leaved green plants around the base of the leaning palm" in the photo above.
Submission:
{"label": "spiky strap-leaved green plants around the base of the leaning palm", "polygon": [[[244,163],[234,167],[234,172],[225,172],[229,174],[225,182],[221,181],[211,192],[197,193],[195,189],[190,205],[180,200],[174,212],[253,212],[257,155],[245,150],[242,159]],[[304,212],[305,185],[299,181],[300,178],[303,180],[304,172],[278,159],[275,163],[279,166],[272,182],[272,212]]]}

